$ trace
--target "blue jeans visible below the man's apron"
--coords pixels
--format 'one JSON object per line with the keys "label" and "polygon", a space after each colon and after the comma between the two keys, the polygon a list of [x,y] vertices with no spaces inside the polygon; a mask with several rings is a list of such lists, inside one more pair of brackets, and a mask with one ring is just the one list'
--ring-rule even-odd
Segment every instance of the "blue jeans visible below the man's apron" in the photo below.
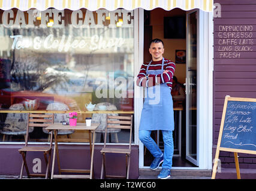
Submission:
{"label": "blue jeans visible below the man's apron", "polygon": [[[173,164],[173,131],[162,131],[162,139],[164,140],[164,162],[162,168],[171,169]],[[151,131],[140,130],[138,131],[138,137],[140,141],[147,147],[149,152],[155,158],[159,158],[162,155],[161,149],[157,146],[152,137],[150,137]]]}

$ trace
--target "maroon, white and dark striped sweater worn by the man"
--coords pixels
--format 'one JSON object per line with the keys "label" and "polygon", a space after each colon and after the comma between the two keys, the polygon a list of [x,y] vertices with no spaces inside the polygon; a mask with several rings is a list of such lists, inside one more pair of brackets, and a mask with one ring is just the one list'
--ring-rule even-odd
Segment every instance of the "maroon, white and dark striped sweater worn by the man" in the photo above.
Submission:
{"label": "maroon, white and dark striped sweater worn by the man", "polygon": [[[168,70],[167,73],[161,73],[158,75],[148,75],[148,79],[144,78],[146,76],[146,69],[149,62],[143,63],[140,68],[140,72],[137,75],[137,85],[141,87],[152,87],[156,84],[166,83],[171,89],[173,84],[173,76],[175,70],[175,63],[173,61],[164,58],[164,70]],[[149,66],[150,70],[161,70],[162,60],[152,61]]]}

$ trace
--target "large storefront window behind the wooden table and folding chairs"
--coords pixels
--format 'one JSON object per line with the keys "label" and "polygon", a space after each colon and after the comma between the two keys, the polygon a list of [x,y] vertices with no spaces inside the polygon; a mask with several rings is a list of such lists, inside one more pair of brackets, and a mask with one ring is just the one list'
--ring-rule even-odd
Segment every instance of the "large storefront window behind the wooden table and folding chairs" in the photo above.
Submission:
{"label": "large storefront window behind the wooden table and folding chairs", "polygon": [[[133,11],[12,9],[1,10],[0,18],[0,140],[24,141],[24,111],[70,110],[79,113],[78,122],[101,122],[96,141],[102,142],[106,111],[134,110]],[[26,107],[29,100],[34,108]],[[59,112],[55,119],[67,116]],[[44,131],[29,134],[47,137]],[[125,131],[110,132],[113,143],[128,140]]]}

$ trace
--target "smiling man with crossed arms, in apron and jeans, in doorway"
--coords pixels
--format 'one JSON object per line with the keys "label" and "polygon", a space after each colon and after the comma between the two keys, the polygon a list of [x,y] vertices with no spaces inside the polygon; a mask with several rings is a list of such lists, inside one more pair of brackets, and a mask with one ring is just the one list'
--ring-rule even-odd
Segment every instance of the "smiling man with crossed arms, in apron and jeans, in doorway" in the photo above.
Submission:
{"label": "smiling man with crossed arms, in apron and jeans, in doorway", "polygon": [[[162,57],[164,43],[161,39],[153,39],[150,42],[149,53],[152,60],[141,65],[137,76],[137,85],[145,87],[139,138],[155,158],[150,165],[150,169],[156,170],[162,164],[162,170],[158,178],[166,179],[170,177],[173,158],[174,119],[171,85],[175,64],[173,61]],[[162,131],[164,153],[150,137],[153,130]]]}

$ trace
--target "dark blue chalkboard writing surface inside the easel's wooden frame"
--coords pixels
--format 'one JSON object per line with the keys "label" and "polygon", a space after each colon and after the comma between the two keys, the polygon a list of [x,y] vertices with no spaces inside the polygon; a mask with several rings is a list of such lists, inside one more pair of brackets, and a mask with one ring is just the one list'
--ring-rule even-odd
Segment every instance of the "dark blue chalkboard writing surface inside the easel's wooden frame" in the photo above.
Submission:
{"label": "dark blue chalkboard writing surface inside the easel's wooden frame", "polygon": [[256,103],[228,101],[221,147],[256,150]]}

